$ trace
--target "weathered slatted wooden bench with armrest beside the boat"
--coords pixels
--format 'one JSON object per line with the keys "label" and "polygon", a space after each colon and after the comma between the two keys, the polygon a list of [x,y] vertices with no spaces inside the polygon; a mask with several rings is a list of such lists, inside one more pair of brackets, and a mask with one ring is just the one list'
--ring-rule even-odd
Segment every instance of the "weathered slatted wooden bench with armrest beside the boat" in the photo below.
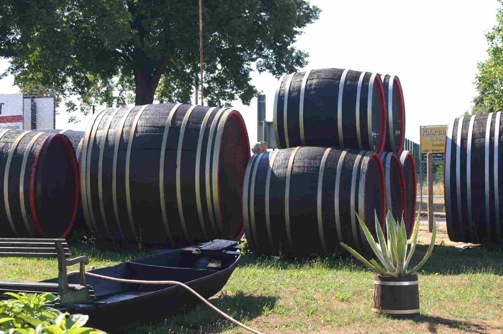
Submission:
{"label": "weathered slatted wooden bench with armrest beside the boat", "polygon": [[[70,250],[65,239],[0,238],[0,257],[58,259],[58,283],[0,281],[0,291],[59,295],[60,304],[91,301],[93,288],[86,285],[87,256],[69,259]],[[66,267],[79,264],[80,284],[68,284]]]}

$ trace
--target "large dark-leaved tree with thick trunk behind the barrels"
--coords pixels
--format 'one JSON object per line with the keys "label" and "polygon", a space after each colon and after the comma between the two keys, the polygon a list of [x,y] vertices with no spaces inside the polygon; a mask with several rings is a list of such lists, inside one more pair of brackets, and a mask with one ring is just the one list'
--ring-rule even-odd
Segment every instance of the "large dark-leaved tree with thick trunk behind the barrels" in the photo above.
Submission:
{"label": "large dark-leaved tree with thick trunk behind the barrels", "polygon": [[[294,47],[319,9],[307,0],[204,0],[205,102],[256,94],[252,66],[304,66]],[[0,0],[0,57],[22,90],[83,104],[189,102],[199,73],[198,0]]]}

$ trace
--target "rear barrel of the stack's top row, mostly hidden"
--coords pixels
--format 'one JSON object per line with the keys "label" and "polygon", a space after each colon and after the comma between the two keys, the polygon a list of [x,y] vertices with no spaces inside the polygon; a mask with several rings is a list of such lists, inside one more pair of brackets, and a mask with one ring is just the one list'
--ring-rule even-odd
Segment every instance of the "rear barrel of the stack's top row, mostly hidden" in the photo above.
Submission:
{"label": "rear barrel of the stack's top row, mostly hidden", "polygon": [[398,155],[403,150],[405,141],[405,104],[402,85],[396,75],[381,75],[386,98],[387,130],[384,150]]}

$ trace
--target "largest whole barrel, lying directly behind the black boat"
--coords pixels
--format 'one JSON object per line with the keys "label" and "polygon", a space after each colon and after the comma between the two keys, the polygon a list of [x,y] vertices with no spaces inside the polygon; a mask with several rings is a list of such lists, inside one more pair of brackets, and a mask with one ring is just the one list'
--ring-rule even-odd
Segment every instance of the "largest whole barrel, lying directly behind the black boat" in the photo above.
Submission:
{"label": "largest whole barrel, lying directly behind the black boat", "polygon": [[158,104],[97,113],[80,158],[88,227],[149,245],[239,239],[249,156],[235,110]]}

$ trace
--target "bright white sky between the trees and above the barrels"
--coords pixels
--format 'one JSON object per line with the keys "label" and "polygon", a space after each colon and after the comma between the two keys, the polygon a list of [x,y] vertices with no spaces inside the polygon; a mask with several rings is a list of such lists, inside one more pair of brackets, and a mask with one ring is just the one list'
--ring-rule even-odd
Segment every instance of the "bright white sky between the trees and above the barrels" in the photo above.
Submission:
{"label": "bright white sky between the trees and above the barrels", "polygon": [[[312,0],[322,13],[304,29],[296,46],[308,51],[310,68],[351,68],[396,74],[405,99],[406,137],[418,142],[420,125],[447,124],[470,108],[476,95],[477,62],[486,56],[484,32],[495,24],[496,0],[409,2]],[[0,59],[0,72],[8,63]],[[267,118],[277,80],[254,73],[253,83],[266,94]],[[13,78],[0,80],[0,93],[18,93]],[[251,142],[257,139],[257,100],[234,101],[246,121]],[[83,130],[89,117],[68,124],[65,112],[57,128]]]}

